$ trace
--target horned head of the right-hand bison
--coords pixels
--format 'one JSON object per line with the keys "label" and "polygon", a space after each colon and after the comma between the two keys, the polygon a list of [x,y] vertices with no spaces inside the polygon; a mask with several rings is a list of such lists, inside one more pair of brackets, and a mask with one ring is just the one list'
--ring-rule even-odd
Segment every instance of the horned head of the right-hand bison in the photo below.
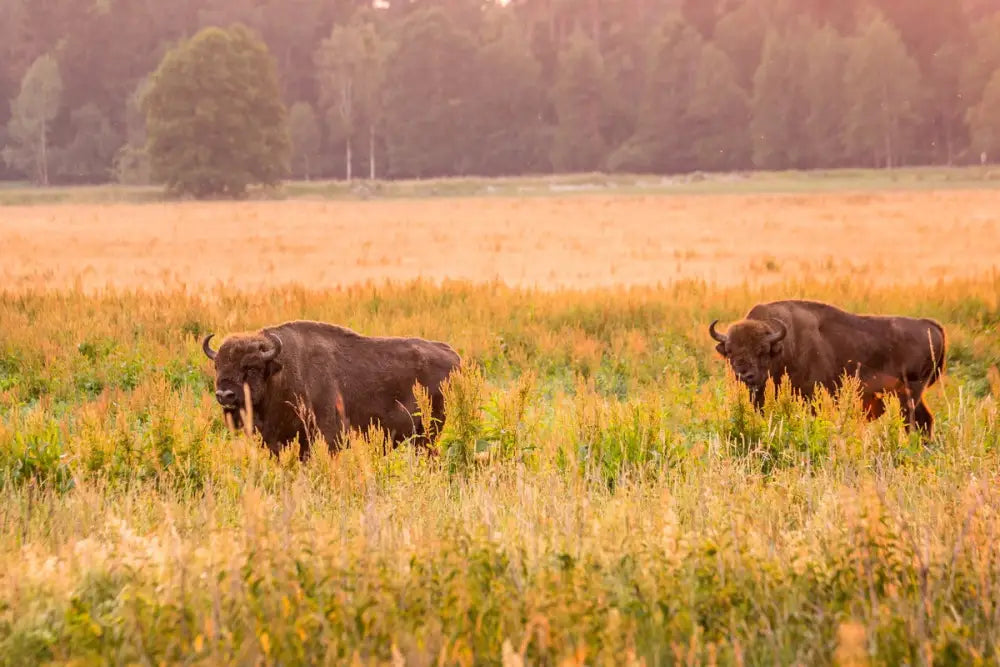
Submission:
{"label": "horned head of the right-hand bison", "polygon": [[715,349],[729,362],[740,382],[761,388],[767,382],[771,360],[781,353],[781,341],[788,329],[779,320],[743,320],[720,334],[715,330],[718,320],[708,327],[708,333],[718,341]]}

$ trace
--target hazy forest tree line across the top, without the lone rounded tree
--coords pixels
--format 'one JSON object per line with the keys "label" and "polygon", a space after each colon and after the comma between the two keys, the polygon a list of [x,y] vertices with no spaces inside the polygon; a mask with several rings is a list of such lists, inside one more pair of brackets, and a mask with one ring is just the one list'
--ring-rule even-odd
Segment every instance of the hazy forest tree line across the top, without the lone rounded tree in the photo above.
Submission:
{"label": "hazy forest tree line across the top, without the lone rounded tree", "polygon": [[151,73],[234,23],[296,178],[1000,158],[1000,0],[0,0],[0,178],[148,182]]}

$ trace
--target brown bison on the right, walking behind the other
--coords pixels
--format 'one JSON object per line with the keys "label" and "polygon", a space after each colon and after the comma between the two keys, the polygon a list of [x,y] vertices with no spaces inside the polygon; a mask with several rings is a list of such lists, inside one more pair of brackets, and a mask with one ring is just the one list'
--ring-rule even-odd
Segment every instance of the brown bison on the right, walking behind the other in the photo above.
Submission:
{"label": "brown bison on the right, walking behind the other", "polygon": [[754,306],[744,320],[721,334],[709,326],[736,377],[750,389],[754,405],[764,401],[768,378],[812,396],[816,385],[831,394],[845,375],[858,378],[870,419],[885,411],[884,397],[899,398],[908,428],[930,436],[934,417],[924,390],[944,372],[945,334],[934,320],[855,315],[815,301],[774,301]]}

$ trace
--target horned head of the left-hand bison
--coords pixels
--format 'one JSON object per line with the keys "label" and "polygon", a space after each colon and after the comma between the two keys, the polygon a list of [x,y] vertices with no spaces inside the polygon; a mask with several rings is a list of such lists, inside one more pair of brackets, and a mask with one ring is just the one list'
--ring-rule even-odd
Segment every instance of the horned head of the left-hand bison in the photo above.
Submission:
{"label": "horned head of the left-hand bison", "polygon": [[201,349],[215,362],[215,399],[238,421],[240,408],[246,409],[243,385],[249,386],[250,400],[257,406],[264,397],[265,383],[281,370],[281,339],[270,331],[230,336],[216,351],[209,345],[213,335],[205,336]]}

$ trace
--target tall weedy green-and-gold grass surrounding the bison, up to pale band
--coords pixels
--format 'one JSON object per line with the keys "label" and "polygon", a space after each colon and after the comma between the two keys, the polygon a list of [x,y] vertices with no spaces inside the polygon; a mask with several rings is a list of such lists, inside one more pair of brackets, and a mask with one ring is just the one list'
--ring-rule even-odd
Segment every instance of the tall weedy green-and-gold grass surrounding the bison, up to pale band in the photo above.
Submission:
{"label": "tall weedy green-and-gold grass surrounding the bison, up to pale band", "polygon": [[[938,434],[763,415],[706,326],[798,294],[933,316]],[[273,460],[198,337],[452,342],[441,456]],[[0,664],[995,663],[1000,281],[532,293],[0,293]]]}

